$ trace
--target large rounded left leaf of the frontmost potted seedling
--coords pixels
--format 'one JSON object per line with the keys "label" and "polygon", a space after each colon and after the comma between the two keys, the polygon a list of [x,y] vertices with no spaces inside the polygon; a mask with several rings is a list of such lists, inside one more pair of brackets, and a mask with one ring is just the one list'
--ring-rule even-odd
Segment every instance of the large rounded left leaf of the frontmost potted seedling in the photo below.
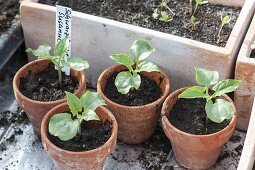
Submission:
{"label": "large rounded left leaf of the frontmost potted seedling", "polygon": [[68,141],[75,137],[79,129],[79,121],[72,120],[68,113],[59,113],[51,117],[49,122],[49,132],[53,136],[59,137],[62,141]]}

